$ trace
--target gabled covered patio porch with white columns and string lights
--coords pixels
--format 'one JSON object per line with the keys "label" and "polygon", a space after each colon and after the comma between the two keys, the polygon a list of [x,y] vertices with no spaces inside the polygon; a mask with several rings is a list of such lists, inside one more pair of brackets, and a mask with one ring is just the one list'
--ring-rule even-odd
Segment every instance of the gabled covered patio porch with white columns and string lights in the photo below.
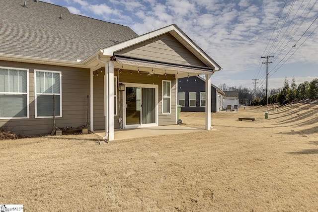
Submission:
{"label": "gabled covered patio porch with white columns and string lights", "polygon": [[[128,133],[128,128],[146,135],[148,127],[156,128],[152,133],[162,131],[159,127],[171,131],[177,124],[178,79],[198,74],[206,79],[205,130],[211,129],[211,76],[222,68],[175,25],[107,47],[94,56],[89,59],[90,131],[104,128],[104,140],[135,132]],[[98,70],[104,79],[94,83]],[[94,86],[102,83],[104,89],[94,92]],[[104,108],[97,108],[100,105]],[[94,123],[103,116],[105,127],[103,120]]]}

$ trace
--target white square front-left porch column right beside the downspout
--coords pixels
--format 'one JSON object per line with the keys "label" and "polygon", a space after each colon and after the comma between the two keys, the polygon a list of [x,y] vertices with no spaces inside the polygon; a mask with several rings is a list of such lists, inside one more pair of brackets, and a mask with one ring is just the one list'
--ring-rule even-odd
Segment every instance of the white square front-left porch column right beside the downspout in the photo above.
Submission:
{"label": "white square front-left porch column right beside the downspout", "polygon": [[113,61],[108,61],[108,79],[109,79],[109,95],[108,95],[109,137],[108,137],[108,141],[113,141],[115,139],[115,134],[114,134],[114,62]]}

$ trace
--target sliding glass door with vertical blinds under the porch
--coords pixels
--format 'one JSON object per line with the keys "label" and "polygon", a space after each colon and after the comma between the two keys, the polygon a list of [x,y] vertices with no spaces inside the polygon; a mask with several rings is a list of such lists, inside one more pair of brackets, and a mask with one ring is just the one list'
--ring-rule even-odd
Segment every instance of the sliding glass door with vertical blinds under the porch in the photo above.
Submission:
{"label": "sliding glass door with vertical blinds under the porch", "polygon": [[125,126],[128,128],[156,126],[158,113],[156,87],[127,85],[125,94]]}

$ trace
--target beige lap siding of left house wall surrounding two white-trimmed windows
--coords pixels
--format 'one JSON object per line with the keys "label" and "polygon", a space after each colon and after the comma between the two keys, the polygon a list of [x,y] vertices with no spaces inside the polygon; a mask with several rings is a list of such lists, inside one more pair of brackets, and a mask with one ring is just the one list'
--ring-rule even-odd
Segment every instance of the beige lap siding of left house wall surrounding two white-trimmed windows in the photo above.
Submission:
{"label": "beige lap siding of left house wall surrounding two white-trimmed windows", "polygon": [[35,119],[34,70],[62,71],[62,117],[57,127],[79,127],[86,124],[86,96],[89,95],[89,70],[40,64],[0,61],[0,66],[29,69],[29,119],[1,119],[0,127],[21,135],[47,134],[53,130],[53,118]]}

